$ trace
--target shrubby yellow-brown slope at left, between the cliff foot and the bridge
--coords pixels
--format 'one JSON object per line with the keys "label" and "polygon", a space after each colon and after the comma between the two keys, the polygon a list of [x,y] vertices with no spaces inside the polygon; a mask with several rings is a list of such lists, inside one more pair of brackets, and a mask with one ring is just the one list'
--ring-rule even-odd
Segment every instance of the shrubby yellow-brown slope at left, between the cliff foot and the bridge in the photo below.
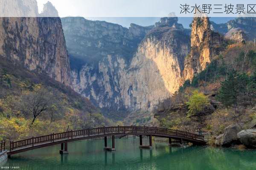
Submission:
{"label": "shrubby yellow-brown slope at left, between the cliff foot and the bridge", "polygon": [[47,76],[0,62],[0,140],[17,140],[111,125],[71,88]]}

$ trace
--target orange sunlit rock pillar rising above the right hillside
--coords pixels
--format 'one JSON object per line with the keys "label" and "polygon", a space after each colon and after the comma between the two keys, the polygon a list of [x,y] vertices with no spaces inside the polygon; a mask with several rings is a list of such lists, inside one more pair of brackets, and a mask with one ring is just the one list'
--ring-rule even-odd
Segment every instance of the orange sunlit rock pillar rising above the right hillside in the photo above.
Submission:
{"label": "orange sunlit rock pillar rising above the right hillside", "polygon": [[191,80],[203,71],[221,51],[223,39],[211,30],[208,17],[195,17],[191,31],[191,53],[185,59],[184,79]]}

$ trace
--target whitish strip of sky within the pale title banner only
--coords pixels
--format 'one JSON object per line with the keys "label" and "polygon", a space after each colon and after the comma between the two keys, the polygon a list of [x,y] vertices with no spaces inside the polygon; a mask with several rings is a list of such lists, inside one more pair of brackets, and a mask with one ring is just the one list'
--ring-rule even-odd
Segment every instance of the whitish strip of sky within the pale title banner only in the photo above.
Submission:
{"label": "whitish strip of sky within the pale title banner only", "polygon": [[[39,10],[48,0],[38,0]],[[164,17],[175,12],[178,17],[189,17],[189,14],[180,14],[180,4],[191,6],[202,4],[234,5],[255,4],[255,0],[49,0],[57,8],[61,17]],[[183,16],[182,16],[183,15]],[[214,16],[213,16],[214,15]],[[209,14],[209,17],[232,17],[232,14]],[[236,14],[237,16],[237,14]],[[193,17],[193,14],[190,14]],[[234,16],[233,16],[234,17]]]}

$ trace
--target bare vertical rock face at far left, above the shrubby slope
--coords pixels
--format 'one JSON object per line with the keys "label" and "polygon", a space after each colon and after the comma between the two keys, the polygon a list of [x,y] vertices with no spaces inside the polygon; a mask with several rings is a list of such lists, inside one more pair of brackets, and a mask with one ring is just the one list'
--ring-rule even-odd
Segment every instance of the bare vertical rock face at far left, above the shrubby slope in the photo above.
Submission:
{"label": "bare vertical rock face at far left, above the shrubby slope", "polygon": [[58,17],[1,17],[0,57],[70,85],[69,57]]}

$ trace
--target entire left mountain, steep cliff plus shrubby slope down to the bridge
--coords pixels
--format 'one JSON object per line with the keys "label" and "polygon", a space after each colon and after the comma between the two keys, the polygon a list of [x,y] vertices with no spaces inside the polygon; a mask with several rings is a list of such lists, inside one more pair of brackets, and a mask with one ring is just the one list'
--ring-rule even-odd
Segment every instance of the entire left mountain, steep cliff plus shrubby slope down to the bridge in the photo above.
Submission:
{"label": "entire left mountain, steep cliff plus shrubby slope down to the bridge", "polygon": [[[0,18],[0,140],[113,125],[71,88],[66,40],[52,4],[42,14],[36,0],[2,0],[2,7],[34,17]],[[49,14],[55,17],[43,17]]]}

